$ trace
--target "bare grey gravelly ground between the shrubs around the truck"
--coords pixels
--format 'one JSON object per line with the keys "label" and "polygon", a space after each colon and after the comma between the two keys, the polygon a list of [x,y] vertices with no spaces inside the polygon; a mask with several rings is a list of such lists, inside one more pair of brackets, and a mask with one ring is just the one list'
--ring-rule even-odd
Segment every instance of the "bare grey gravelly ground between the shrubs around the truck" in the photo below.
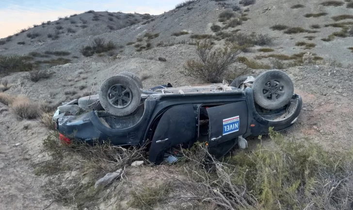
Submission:
{"label": "bare grey gravelly ground between the shrubs around the truck", "polygon": [[[100,84],[111,75],[121,71],[131,71],[140,76],[144,75],[144,87],[149,88],[170,82],[173,86],[183,86],[198,84],[202,81],[186,77],[180,73],[186,60],[196,57],[195,46],[188,44],[178,44],[180,41],[190,40],[190,35],[195,34],[214,34],[210,27],[212,23],[222,25],[218,22],[218,15],[225,9],[231,9],[234,5],[239,5],[237,0],[227,1],[228,5],[220,5],[212,0],[199,0],[187,7],[166,12],[160,16],[150,17],[150,21],[145,23],[143,15],[134,15],[122,22],[121,19],[114,19],[115,30],[119,27],[126,28],[120,30],[107,30],[111,24],[109,17],[127,16],[118,13],[96,13],[104,20],[101,24],[103,28],[97,28],[98,22],[91,20],[94,14],[87,13],[71,17],[77,23],[70,23],[70,20],[58,20],[43,26],[36,26],[28,32],[13,36],[12,41],[5,41],[0,45],[0,55],[23,54],[31,52],[44,53],[45,51],[67,51],[71,59],[70,63],[54,66],[48,70],[53,74],[38,82],[32,82],[24,78],[27,72],[12,73],[1,79],[6,79],[11,84],[11,88],[6,93],[17,95],[25,94],[34,101],[47,101],[50,105],[56,106],[62,102],[73,98],[78,98],[91,91],[96,93]],[[294,4],[301,3],[302,8],[291,9]],[[327,37],[333,32],[340,31],[341,28],[324,27],[324,24],[335,22],[332,17],[343,14],[353,14],[353,9],[342,6],[323,6],[321,1],[279,1],[279,0],[257,0],[254,5],[241,6],[242,13],[248,14],[250,18],[237,26],[244,33],[262,33],[275,37],[271,46],[273,53],[288,54],[310,51],[323,57],[325,60],[334,59],[337,62],[349,66],[351,64],[352,52],[348,47],[353,47],[352,37],[335,37],[334,40],[324,42],[321,38]],[[248,12],[244,10],[249,9]],[[308,13],[328,13],[319,18],[305,18]],[[240,12],[237,12],[239,16]],[[99,15],[103,15],[99,16]],[[92,17],[91,17],[92,16]],[[75,19],[76,18],[76,19]],[[113,17],[114,18],[114,17]],[[127,17],[128,18],[128,17]],[[137,24],[130,25],[131,21],[137,18]],[[82,19],[87,19],[88,28],[80,27]],[[348,19],[349,20],[349,19]],[[342,20],[347,21],[347,20]],[[75,24],[79,24],[76,27]],[[119,23],[119,24],[118,24]],[[63,34],[58,40],[51,40],[46,35],[55,31],[57,25],[64,25],[64,28],[71,26],[78,28],[77,32]],[[124,25],[125,24],[125,25]],[[301,26],[310,29],[313,24],[319,24],[321,29],[312,41],[316,44],[315,48],[303,50],[295,46],[298,41],[303,41],[304,36],[312,35],[307,33],[287,35],[281,31],[270,29],[274,24],[285,24],[290,27]],[[40,31],[39,31],[40,29]],[[234,30],[228,29],[227,31]],[[36,31],[37,30],[37,31]],[[48,30],[48,31],[43,31]],[[86,30],[86,31],[85,31]],[[173,33],[187,31],[188,35],[173,36]],[[29,38],[26,33],[38,32],[38,38]],[[86,34],[90,32],[91,34]],[[97,35],[98,32],[104,34]],[[148,41],[144,38],[138,41],[137,38],[144,37],[145,33],[159,34],[158,37],[149,41],[155,46],[148,51],[136,52],[133,45],[128,42],[142,43]],[[87,36],[88,35],[88,36]],[[47,36],[47,37],[46,37]],[[116,50],[113,56],[102,54],[102,56],[84,57],[79,53],[80,47],[93,40],[94,37],[103,37],[112,40],[118,45],[124,46]],[[1,39],[2,41],[4,39]],[[24,41],[24,45],[17,42]],[[157,47],[160,42],[169,43],[167,47]],[[223,44],[224,40],[216,41],[216,44]],[[247,53],[242,53],[248,58],[254,58],[259,53],[260,46],[251,48]],[[75,58],[73,58],[75,56]],[[159,61],[163,57],[166,61]],[[35,58],[43,59],[43,58]],[[266,62],[266,59],[263,60]],[[244,65],[236,63],[231,69],[244,68]],[[257,75],[263,70],[248,69],[248,74]],[[299,120],[285,135],[292,140],[311,140],[320,143],[327,150],[348,150],[353,146],[353,123],[350,116],[353,114],[352,105],[352,69],[337,68],[333,66],[300,66],[284,70],[289,74],[294,82],[295,92],[303,97],[303,109]],[[48,136],[48,131],[38,120],[17,120],[10,107],[0,104],[0,209],[27,209],[27,210],[63,210],[74,209],[73,207],[63,207],[48,197],[43,196],[42,186],[48,181],[48,177],[33,174],[34,163],[40,162],[48,155],[42,151],[42,141]],[[258,140],[249,139],[253,145],[259,143]],[[162,167],[143,167],[130,169],[127,180],[133,182],[150,181],[151,178],[168,173]],[[70,177],[70,176],[68,176]],[[55,178],[55,177],[54,177]],[[165,178],[165,177],[164,177]],[[127,185],[128,186],[128,185]],[[89,210],[96,209],[119,209],[114,203],[116,201],[98,203],[90,206]],[[119,201],[120,202],[120,201]],[[127,198],[121,200],[121,209],[126,208]],[[120,206],[119,206],[120,207]]]}

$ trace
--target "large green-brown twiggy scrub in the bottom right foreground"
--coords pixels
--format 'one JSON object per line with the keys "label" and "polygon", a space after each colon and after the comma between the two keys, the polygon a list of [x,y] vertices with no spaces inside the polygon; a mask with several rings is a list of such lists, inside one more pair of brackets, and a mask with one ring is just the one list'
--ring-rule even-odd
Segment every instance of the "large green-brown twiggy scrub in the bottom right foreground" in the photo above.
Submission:
{"label": "large green-brown twiggy scrub in the bottom right foreground", "polygon": [[195,144],[180,161],[186,178],[171,178],[173,196],[160,196],[159,202],[174,199],[195,209],[209,203],[218,210],[350,209],[352,152],[330,153],[315,143],[286,140],[272,129],[270,137],[275,148],[259,144],[252,153],[224,161]]}

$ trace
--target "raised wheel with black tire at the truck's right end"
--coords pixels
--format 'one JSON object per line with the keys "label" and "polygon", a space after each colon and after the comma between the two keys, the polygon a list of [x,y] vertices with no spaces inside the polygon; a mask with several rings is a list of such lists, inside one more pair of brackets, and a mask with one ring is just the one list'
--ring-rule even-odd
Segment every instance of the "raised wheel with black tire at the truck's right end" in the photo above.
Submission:
{"label": "raised wheel with black tire at the truck's right end", "polygon": [[255,79],[252,89],[255,102],[265,109],[287,105],[294,93],[292,80],[279,70],[262,72]]}

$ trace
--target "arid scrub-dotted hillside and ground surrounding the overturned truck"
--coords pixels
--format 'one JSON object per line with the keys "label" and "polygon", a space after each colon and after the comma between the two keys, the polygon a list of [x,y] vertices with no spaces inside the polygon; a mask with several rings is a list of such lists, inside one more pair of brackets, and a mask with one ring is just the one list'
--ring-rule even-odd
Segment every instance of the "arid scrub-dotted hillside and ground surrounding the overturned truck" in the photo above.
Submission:
{"label": "arid scrub-dotted hillside and ground surrounding the overturned truck", "polygon": [[[197,43],[236,49],[236,59],[212,81],[185,73]],[[188,0],[157,16],[92,10],[23,29],[0,39],[0,209],[349,209],[352,58],[353,0]],[[202,148],[152,166],[138,149],[65,147],[51,122],[58,105],[122,71],[151,88],[269,69],[302,96],[298,121],[212,166]]]}

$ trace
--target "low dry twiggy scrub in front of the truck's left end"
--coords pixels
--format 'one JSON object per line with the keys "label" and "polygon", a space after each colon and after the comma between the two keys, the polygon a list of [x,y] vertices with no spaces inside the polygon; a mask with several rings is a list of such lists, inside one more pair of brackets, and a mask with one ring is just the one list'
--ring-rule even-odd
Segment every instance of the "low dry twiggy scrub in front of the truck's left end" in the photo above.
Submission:
{"label": "low dry twiggy scrub in front of the truck's left end", "polygon": [[[49,158],[34,164],[34,173],[35,175],[55,175],[51,176],[52,178],[43,186],[44,195],[65,206],[84,209],[96,205],[98,201],[114,193],[110,190],[95,189],[97,179],[117,169],[125,169],[125,166],[135,160],[147,162],[143,156],[144,147],[126,149],[113,146],[108,141],[96,140],[92,140],[89,144],[79,141],[66,144],[58,140],[57,133],[49,134],[43,140],[43,152],[48,153]],[[84,161],[77,161],[77,159]],[[65,174],[73,170],[80,175],[63,179]],[[117,190],[115,184],[117,183],[111,185]]]}

